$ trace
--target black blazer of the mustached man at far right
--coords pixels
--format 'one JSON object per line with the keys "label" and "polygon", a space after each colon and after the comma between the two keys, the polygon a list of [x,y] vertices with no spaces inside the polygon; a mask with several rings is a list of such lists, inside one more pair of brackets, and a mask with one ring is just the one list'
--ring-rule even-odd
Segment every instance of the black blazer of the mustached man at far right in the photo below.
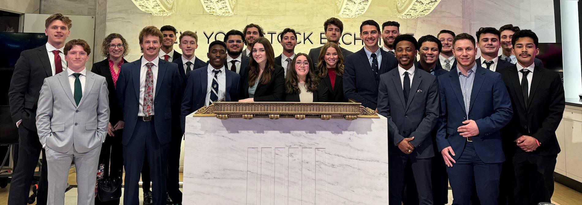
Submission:
{"label": "black blazer of the mustached man at far right", "polygon": [[[533,136],[541,146],[533,154],[553,155],[560,152],[556,129],[565,106],[564,86],[560,75],[535,64],[529,99],[523,99],[517,66],[502,70],[505,87],[512,101],[513,118],[503,129],[506,151],[524,152],[515,142],[521,135]],[[526,105],[528,105],[526,109]]]}

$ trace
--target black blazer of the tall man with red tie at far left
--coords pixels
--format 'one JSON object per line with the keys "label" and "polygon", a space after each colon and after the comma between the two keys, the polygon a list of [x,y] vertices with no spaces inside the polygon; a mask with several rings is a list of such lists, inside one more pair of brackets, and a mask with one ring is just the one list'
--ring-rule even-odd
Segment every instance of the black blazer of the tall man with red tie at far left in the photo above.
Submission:
{"label": "black blazer of the tall man with red tie at far left", "polygon": [[8,89],[13,123],[22,120],[20,125],[36,131],[38,95],[44,78],[50,76],[52,69],[46,45],[20,53]]}

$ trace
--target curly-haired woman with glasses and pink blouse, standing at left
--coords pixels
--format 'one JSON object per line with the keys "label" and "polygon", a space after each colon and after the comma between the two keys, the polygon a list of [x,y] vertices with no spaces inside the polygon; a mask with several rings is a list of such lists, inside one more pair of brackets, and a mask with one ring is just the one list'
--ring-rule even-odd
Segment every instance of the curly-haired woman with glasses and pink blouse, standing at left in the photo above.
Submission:
{"label": "curly-haired woman with glasses and pink blouse, standing at left", "polygon": [[[99,156],[99,167],[102,168],[102,175],[98,173],[98,178],[121,177],[123,170],[123,152],[121,136],[123,129],[123,113],[119,106],[115,87],[119,71],[123,63],[127,63],[124,56],[129,53],[127,41],[120,34],[109,34],[101,44],[101,55],[105,60],[93,64],[91,72],[105,77],[107,89],[109,90],[109,124],[107,125],[107,137],[101,146]],[[95,204],[119,204],[119,199],[101,202],[99,197],[95,197]]]}

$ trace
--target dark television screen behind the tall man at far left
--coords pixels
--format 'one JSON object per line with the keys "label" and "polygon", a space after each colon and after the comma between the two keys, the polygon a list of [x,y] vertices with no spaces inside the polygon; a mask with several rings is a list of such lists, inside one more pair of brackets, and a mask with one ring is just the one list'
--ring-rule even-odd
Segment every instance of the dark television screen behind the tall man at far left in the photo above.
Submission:
{"label": "dark television screen behind the tall man at far left", "polygon": [[0,68],[11,68],[20,52],[47,44],[44,33],[0,33]]}

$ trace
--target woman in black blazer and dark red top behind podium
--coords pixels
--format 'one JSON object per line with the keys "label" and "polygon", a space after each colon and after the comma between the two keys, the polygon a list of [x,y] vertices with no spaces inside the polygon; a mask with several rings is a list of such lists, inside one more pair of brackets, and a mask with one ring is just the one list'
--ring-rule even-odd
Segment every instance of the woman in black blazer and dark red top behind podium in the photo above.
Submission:
{"label": "woman in black blazer and dark red top behind podium", "polygon": [[343,62],[344,56],[338,44],[329,42],[320,51],[318,77],[327,88],[328,102],[347,102],[343,96]]}

